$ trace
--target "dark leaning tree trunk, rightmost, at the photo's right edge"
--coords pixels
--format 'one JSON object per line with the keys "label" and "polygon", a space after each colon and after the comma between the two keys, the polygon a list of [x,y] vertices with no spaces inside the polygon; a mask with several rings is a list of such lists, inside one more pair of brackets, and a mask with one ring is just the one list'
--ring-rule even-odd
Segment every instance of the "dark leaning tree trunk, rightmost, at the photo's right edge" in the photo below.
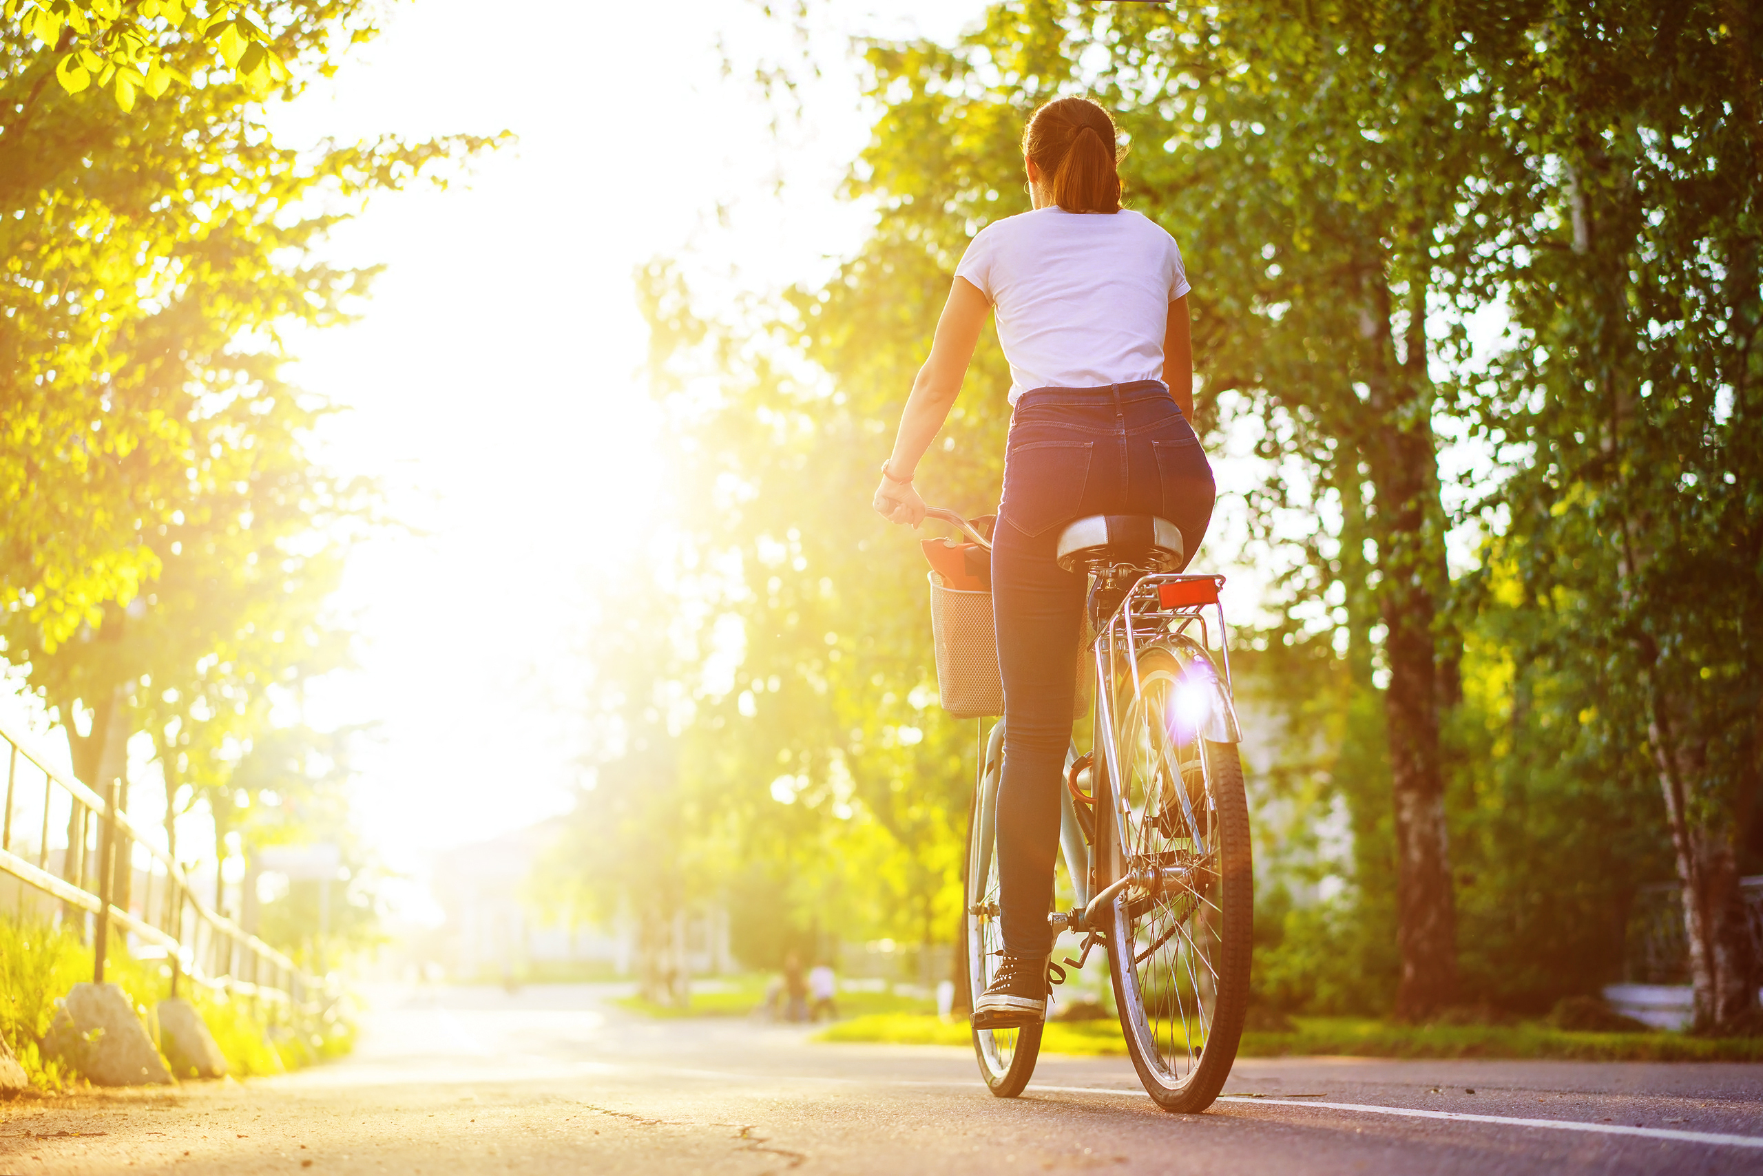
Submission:
{"label": "dark leaning tree trunk, rightmost, at the photo's right edge", "polygon": [[1684,887],[1696,1030],[1710,1031],[1754,1021],[1759,961],[1738,889],[1737,829],[1728,820],[1696,813],[1696,806],[1687,802],[1689,788],[1707,772],[1705,748],[1689,735],[1691,721],[1680,714],[1687,703],[1673,705],[1666,693],[1652,689],[1647,737],[1659,769],[1677,876]]}

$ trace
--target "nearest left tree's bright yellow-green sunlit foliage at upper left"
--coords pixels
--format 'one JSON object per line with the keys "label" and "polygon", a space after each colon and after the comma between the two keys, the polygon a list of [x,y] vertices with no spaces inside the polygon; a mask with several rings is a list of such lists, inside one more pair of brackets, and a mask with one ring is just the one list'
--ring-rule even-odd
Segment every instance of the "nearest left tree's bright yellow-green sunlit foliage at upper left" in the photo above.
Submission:
{"label": "nearest left tree's bright yellow-green sunlit foliage at upper left", "polygon": [[[282,97],[331,67],[361,7],[277,9],[275,51],[298,67]],[[53,649],[157,575],[146,534],[212,441],[201,421],[273,374],[279,330],[340,321],[365,289],[368,272],[314,257],[338,219],[319,201],[398,187],[490,141],[301,157],[272,141],[247,90],[122,111],[51,85],[55,62],[32,44],[0,26],[0,607]]]}

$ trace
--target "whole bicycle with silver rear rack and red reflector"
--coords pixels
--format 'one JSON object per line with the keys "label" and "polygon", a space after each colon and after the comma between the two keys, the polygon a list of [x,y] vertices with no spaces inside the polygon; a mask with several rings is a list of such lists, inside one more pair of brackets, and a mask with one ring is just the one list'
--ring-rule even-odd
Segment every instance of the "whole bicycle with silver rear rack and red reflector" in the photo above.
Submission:
{"label": "whole bicycle with silver rear rack and red reflector", "polygon": [[[991,550],[948,510],[929,510]],[[1224,577],[1179,575],[1181,532],[1149,515],[1093,515],[1065,527],[1060,566],[1088,575],[1091,748],[1067,753],[1060,850],[1075,903],[1049,912],[1081,934],[1077,959],[1105,947],[1114,1007],[1134,1068],[1165,1111],[1211,1105],[1236,1061],[1248,1009],[1253,860],[1236,744]],[[933,580],[934,584],[934,580]],[[1208,610],[1218,624],[1213,658]],[[1199,631],[1195,640],[1192,629]],[[943,656],[943,649],[938,649]],[[963,959],[971,1001],[1003,950],[996,806],[1003,721],[980,719],[968,822]],[[1084,788],[1084,781],[1090,786]],[[1042,1024],[973,1030],[993,1095],[1015,1097],[1040,1053]]]}

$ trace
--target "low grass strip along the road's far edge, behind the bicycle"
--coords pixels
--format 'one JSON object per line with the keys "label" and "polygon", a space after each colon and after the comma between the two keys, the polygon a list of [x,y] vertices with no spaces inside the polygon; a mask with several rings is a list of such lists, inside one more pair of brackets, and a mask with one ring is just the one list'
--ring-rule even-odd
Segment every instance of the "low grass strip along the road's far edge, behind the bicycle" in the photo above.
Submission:
{"label": "low grass strip along the road's far edge, behind the bicycle", "polygon": [[[1345,1054],[1358,1058],[1569,1058],[1576,1061],[1763,1061],[1763,1038],[1684,1033],[1574,1033],[1543,1024],[1403,1026],[1352,1017],[1296,1017],[1291,1033],[1245,1033],[1238,1056]],[[820,1042],[966,1046],[968,1026],[934,1016],[871,1016],[834,1024]],[[1047,1024],[1040,1047],[1063,1054],[1123,1054],[1120,1024]]]}

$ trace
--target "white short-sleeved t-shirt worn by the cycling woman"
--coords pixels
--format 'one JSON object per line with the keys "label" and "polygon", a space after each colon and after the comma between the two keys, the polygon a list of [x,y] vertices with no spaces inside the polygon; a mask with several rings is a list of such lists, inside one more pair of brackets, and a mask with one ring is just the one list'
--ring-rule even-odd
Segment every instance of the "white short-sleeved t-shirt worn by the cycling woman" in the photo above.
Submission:
{"label": "white short-sleeved t-shirt worn by the cycling woman", "polygon": [[1176,238],[1125,210],[994,220],[968,242],[956,277],[998,309],[1010,404],[1030,388],[1160,379],[1169,303],[1190,289]]}

